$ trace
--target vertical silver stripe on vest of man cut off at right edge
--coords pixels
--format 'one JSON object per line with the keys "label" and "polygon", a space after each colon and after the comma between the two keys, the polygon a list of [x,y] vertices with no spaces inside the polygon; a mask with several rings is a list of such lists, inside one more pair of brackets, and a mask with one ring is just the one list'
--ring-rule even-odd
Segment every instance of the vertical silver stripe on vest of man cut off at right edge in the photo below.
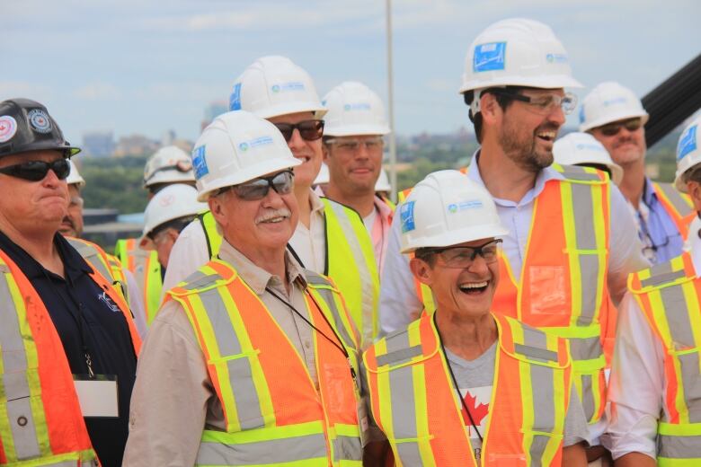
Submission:
{"label": "vertical silver stripe on vest of man cut off at right edge", "polygon": [[[680,271],[684,272],[684,271]],[[660,289],[665,317],[670,328],[672,342],[691,348],[697,347],[693,327],[689,319],[687,301],[682,286],[669,286]],[[701,384],[698,383],[698,352],[677,356],[681,366],[681,383],[684,401],[688,407],[689,422],[701,422]]]}

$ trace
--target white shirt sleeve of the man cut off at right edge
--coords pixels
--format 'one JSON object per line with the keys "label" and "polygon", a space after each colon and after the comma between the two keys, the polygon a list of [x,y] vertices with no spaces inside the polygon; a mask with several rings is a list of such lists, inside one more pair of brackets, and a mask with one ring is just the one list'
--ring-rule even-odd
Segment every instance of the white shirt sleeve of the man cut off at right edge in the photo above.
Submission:
{"label": "white shirt sleeve of the man cut off at right edge", "polygon": [[619,306],[608,401],[608,432],[601,437],[614,459],[642,453],[656,459],[657,421],[664,395],[664,351],[642,310],[627,294]]}

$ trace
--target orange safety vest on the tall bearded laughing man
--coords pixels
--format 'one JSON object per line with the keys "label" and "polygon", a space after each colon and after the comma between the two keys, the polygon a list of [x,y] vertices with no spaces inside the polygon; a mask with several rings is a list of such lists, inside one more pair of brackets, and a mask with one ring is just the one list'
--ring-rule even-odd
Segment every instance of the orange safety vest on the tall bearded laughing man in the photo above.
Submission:
{"label": "orange safety vest on the tall bearded laughing man", "polygon": [[[610,185],[590,167],[553,164],[563,180],[551,179],[537,196],[520,281],[500,258],[500,280],[492,310],[570,339],[574,382],[590,423],[604,413],[610,316],[608,295]],[[430,288],[414,278],[428,313]]]}

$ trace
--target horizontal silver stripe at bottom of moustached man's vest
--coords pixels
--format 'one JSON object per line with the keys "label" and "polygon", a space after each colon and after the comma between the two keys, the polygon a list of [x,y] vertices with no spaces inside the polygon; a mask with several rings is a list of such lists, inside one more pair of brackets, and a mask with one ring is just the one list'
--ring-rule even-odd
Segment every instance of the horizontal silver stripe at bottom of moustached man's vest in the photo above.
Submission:
{"label": "horizontal silver stripe at bottom of moustached man's vest", "polygon": [[196,465],[278,465],[327,457],[320,433],[235,445],[203,441]]}

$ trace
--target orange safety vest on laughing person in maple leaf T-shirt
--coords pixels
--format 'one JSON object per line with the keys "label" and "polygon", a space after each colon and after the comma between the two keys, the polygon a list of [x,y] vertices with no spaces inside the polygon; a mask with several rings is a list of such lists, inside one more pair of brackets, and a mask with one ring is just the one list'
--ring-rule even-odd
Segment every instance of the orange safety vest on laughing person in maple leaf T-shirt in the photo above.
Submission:
{"label": "orange safety vest on laughing person in maple leaf T-shirt", "polygon": [[[492,314],[499,330],[479,465],[561,465],[572,392],[565,339]],[[398,465],[477,466],[432,315],[363,355],[370,406]]]}

